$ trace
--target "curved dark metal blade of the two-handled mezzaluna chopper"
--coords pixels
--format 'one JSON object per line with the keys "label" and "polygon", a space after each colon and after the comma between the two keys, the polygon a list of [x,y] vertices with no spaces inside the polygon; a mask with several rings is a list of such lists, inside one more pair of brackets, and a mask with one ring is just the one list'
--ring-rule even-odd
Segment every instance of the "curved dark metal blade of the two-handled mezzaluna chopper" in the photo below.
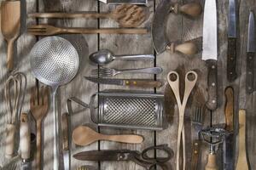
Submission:
{"label": "curved dark metal blade of the two-handled mezzaluna chopper", "polygon": [[152,40],[154,49],[157,54],[161,54],[166,51],[166,47],[169,45],[169,40],[166,38],[166,19],[170,13],[172,6],[171,0],[162,0],[157,6],[154,19],[152,21]]}

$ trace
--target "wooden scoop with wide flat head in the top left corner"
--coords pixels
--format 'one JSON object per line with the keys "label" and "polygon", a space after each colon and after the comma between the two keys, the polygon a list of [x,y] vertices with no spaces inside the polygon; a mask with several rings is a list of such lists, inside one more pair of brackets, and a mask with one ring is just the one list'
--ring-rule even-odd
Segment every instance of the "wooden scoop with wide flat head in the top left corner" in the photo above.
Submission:
{"label": "wooden scoop with wide flat head in the top left corner", "polygon": [[20,36],[20,1],[3,1],[1,5],[1,31],[7,41],[7,68],[12,71],[15,40]]}

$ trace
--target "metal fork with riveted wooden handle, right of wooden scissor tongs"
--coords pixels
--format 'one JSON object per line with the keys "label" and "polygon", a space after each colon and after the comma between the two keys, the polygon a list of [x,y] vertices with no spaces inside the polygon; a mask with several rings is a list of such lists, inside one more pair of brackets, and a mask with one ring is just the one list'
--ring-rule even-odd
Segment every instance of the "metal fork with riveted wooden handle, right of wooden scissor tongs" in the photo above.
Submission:
{"label": "metal fork with riveted wooden handle, right of wooden scissor tongs", "polygon": [[192,141],[192,160],[191,160],[191,169],[197,170],[198,169],[198,160],[200,155],[200,148],[201,148],[201,139],[200,139],[200,131],[203,127],[203,114],[204,114],[204,107],[203,106],[196,106],[195,111],[192,115],[192,127],[195,129],[195,133],[197,138],[193,139]]}

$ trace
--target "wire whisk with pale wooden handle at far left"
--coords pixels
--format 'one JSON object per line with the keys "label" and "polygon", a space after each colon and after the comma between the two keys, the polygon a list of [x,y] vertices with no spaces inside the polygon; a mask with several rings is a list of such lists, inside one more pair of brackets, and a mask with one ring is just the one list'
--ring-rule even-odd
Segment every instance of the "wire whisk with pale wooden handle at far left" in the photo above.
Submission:
{"label": "wire whisk with pale wooden handle at far left", "polygon": [[20,120],[26,91],[26,76],[16,72],[5,82],[4,95],[7,107],[5,156],[11,158],[15,151],[15,124]]}

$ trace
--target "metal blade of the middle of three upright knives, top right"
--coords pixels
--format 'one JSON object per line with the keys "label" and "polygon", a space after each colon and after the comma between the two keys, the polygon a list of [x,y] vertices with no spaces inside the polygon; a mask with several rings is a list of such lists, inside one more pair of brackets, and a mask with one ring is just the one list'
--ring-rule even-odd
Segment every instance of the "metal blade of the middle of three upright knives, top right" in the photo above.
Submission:
{"label": "metal blade of the middle of three upright knives, top right", "polygon": [[229,37],[236,37],[236,0],[229,3]]}

